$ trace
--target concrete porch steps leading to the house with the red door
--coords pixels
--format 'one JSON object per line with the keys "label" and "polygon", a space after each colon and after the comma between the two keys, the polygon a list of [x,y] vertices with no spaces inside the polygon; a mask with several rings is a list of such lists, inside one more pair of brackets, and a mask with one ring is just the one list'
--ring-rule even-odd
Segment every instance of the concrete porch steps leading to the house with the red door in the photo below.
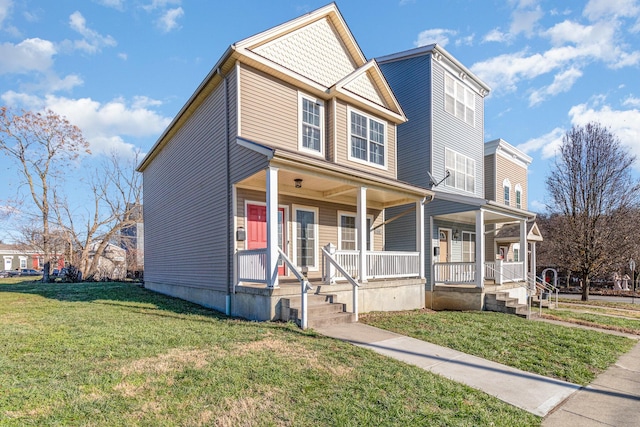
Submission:
{"label": "concrete porch steps leading to the house with the red door", "polygon": [[[282,320],[293,321],[300,325],[301,297],[291,297],[282,300]],[[345,304],[334,302],[336,296],[332,294],[307,295],[307,327],[319,328],[341,323],[353,323],[354,314],[345,311]]]}

